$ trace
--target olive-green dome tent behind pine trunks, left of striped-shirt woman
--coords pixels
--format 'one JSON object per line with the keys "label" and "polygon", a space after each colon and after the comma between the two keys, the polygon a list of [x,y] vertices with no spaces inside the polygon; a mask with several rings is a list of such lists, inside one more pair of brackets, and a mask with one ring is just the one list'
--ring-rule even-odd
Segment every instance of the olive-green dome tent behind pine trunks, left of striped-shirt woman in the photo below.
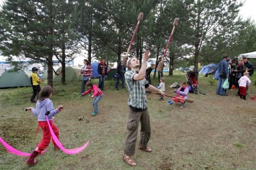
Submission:
{"label": "olive-green dome tent behind pine trunks, left of striped-shirt woman", "polygon": [[[56,73],[61,73],[62,67],[58,68]],[[66,66],[65,73],[66,73],[66,82],[78,82],[82,79],[82,75],[79,75],[81,68]],[[61,74],[55,75],[53,82],[61,82]]]}

